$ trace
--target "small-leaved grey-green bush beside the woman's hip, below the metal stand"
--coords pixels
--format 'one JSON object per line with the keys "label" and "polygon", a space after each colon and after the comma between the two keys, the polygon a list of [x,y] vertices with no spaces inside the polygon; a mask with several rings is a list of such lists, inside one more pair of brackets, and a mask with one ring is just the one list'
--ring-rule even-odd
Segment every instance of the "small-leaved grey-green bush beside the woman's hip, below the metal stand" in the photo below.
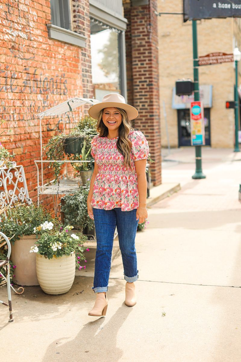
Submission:
{"label": "small-leaved grey-green bush beside the woman's hip, below the metal stand", "polygon": [[93,228],[94,221],[89,218],[87,211],[88,192],[87,188],[79,188],[61,199],[61,211],[64,212],[65,223],[76,225],[81,229],[86,226]]}

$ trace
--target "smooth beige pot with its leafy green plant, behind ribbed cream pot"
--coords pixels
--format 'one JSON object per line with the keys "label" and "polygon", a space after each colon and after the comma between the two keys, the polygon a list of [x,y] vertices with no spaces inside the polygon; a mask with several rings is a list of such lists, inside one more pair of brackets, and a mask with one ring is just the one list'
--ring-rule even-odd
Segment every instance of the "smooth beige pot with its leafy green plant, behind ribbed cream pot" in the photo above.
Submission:
{"label": "smooth beige pot with its leafy green plant, behind ribbed cream pot", "polygon": [[13,282],[18,285],[39,285],[35,257],[29,254],[31,245],[37,242],[34,230],[45,220],[55,223],[43,206],[16,203],[2,214],[1,231],[10,239],[14,265]]}

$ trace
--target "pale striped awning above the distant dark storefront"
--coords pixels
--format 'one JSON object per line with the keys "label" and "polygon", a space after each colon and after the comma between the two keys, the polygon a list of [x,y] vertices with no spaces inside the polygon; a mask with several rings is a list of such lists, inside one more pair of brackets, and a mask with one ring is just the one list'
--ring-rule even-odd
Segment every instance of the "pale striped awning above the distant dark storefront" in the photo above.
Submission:
{"label": "pale striped awning above the distant dark storefront", "polygon": [[[203,102],[204,108],[212,107],[212,85],[203,84],[199,85],[200,101]],[[194,101],[194,93],[190,96],[177,96],[176,87],[173,87],[172,93],[172,108],[173,109],[186,109],[190,108],[190,102]]]}

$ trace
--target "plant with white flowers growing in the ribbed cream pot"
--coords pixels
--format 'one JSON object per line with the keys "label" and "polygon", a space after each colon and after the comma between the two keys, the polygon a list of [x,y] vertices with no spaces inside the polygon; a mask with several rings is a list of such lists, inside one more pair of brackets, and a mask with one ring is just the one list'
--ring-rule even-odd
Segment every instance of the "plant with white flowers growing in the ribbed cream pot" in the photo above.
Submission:
{"label": "plant with white flowers growing in the ribbed cream pot", "polygon": [[[83,243],[87,237],[82,234],[71,232],[73,226],[54,225],[47,220],[35,228],[34,232],[39,233],[37,245],[30,248],[30,253],[44,255],[48,259],[61,257],[76,252],[76,268],[81,269],[80,261],[85,260],[84,252],[87,250]],[[89,250],[89,249],[88,249]],[[85,260],[86,261],[86,260]]]}

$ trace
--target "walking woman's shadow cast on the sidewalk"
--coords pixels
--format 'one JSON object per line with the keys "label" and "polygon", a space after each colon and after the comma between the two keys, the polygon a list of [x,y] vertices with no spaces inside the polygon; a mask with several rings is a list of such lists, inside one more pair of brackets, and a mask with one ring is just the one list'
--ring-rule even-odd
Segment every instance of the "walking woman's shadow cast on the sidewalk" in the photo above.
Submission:
{"label": "walking woman's shadow cast on the sidewalk", "polygon": [[106,324],[103,324],[104,317],[90,317],[98,319],[83,325],[73,340],[66,341],[66,337],[52,342],[42,362],[119,361],[123,351],[116,346],[117,334],[131,311],[132,308],[126,308],[123,303]]}

